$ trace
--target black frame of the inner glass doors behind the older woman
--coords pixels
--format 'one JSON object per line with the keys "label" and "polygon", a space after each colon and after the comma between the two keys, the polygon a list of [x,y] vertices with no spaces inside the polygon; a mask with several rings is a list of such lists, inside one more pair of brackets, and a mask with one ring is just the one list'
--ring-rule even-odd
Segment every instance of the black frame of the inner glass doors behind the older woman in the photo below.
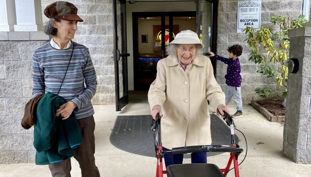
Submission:
{"label": "black frame of the inner glass doors behind the older woman", "polygon": [[[165,29],[165,19],[163,20],[163,17],[169,16],[169,28],[173,29],[173,17],[180,17],[180,16],[196,16],[196,11],[174,11],[174,12],[132,12],[132,25],[133,25],[133,69],[134,69],[134,90],[138,89],[139,83],[136,78],[138,78],[138,65],[139,65],[139,55],[138,55],[138,18],[143,17],[155,17],[155,16],[161,16],[161,25],[162,25],[162,31]],[[173,39],[173,32],[172,30],[169,30],[169,36],[170,41]],[[164,35],[162,35],[163,39],[162,41],[162,49],[161,51],[165,53],[164,51]]]}

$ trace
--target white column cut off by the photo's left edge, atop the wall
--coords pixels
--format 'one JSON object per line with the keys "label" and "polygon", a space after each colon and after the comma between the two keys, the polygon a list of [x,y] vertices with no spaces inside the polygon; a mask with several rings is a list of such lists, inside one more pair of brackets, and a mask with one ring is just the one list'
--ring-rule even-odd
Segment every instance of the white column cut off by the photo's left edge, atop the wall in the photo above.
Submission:
{"label": "white column cut off by the photo's left edge, atop the wall", "polygon": [[0,31],[14,31],[16,24],[15,2],[0,0]]}

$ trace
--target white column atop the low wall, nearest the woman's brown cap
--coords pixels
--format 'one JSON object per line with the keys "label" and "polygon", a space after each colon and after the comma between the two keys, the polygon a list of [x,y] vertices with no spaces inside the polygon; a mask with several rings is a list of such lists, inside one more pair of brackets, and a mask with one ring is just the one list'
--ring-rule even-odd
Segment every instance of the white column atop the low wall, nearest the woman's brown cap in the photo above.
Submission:
{"label": "white column atop the low wall, nearest the woman's brown cap", "polygon": [[42,31],[41,0],[15,0],[14,31]]}

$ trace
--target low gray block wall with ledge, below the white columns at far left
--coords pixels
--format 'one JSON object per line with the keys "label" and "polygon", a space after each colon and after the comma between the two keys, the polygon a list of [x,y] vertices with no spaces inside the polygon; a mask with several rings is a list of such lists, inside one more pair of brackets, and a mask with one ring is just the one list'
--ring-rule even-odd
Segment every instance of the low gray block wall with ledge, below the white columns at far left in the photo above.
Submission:
{"label": "low gray block wall with ledge, below the white columns at far left", "polygon": [[21,127],[31,98],[31,58],[49,36],[43,32],[0,32],[0,163],[34,160],[33,128]]}

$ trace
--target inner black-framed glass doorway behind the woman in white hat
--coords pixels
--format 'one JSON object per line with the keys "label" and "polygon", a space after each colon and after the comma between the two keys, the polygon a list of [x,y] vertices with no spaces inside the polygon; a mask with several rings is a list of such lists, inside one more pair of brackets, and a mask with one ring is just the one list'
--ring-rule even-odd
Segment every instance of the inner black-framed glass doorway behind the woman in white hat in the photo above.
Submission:
{"label": "inner black-framed glass doorway behind the woman in white hat", "polygon": [[148,103],[147,92],[156,79],[158,61],[167,56],[166,46],[177,33],[196,31],[196,12],[136,12],[132,21],[134,90],[129,102]]}

